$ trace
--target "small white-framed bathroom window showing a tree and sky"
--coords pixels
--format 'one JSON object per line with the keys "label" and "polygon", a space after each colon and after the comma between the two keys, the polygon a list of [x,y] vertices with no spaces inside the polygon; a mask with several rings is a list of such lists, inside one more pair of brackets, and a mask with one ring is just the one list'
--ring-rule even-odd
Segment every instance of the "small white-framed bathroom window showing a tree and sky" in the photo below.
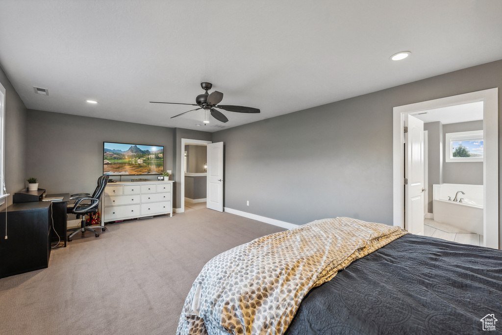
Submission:
{"label": "small white-framed bathroom window showing a tree and sky", "polygon": [[483,131],[446,133],[446,161],[483,161]]}

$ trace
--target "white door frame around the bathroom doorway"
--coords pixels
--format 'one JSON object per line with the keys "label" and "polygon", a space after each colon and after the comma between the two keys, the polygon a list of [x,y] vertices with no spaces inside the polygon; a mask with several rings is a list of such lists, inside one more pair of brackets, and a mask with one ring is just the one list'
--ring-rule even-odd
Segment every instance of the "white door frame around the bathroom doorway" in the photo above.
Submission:
{"label": "white door frame around the bathroom doorway", "polygon": [[[483,245],[498,249],[498,88],[423,101],[393,110],[393,224],[403,227],[404,215],[404,115],[421,110],[483,101]],[[404,227],[403,227],[404,228]]]}

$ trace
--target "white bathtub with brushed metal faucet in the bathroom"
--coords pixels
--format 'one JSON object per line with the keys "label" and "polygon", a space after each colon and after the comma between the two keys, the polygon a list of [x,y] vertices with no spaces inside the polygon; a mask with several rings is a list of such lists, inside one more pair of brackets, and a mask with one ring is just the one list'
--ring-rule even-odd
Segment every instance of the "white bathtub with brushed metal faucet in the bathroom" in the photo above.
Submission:
{"label": "white bathtub with brushed metal faucet in the bathroom", "polygon": [[[454,202],[457,191],[457,201]],[[448,200],[450,197],[451,200]],[[466,184],[434,184],[432,186],[434,221],[483,235],[483,186]],[[459,200],[463,198],[463,202]],[[468,202],[468,203],[467,203]]]}

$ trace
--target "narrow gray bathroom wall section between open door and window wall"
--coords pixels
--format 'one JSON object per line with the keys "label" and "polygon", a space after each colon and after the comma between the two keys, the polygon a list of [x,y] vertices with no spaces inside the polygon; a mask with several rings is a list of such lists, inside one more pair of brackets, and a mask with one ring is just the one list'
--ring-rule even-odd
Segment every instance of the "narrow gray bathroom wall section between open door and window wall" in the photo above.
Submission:
{"label": "narrow gray bathroom wall section between open door and window wall", "polygon": [[424,123],[427,130],[427,212],[432,213],[432,185],[443,184],[443,124]]}

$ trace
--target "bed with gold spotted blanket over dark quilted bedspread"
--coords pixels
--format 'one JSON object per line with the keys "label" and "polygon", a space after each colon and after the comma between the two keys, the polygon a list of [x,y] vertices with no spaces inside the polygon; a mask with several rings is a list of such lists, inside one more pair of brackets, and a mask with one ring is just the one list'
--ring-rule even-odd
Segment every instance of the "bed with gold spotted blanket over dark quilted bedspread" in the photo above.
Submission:
{"label": "bed with gold spotted blanket over dark quilted bedspread", "polygon": [[[281,263],[284,255],[267,238],[283,244],[286,258],[292,254],[285,263],[292,266]],[[346,240],[353,243],[347,247]],[[316,221],[234,249],[201,271],[178,334],[502,333],[499,250],[350,218]],[[260,256],[246,259],[254,252]],[[298,255],[309,257],[297,263]],[[254,276],[254,268],[267,275]],[[292,272],[302,272],[301,282]]]}

